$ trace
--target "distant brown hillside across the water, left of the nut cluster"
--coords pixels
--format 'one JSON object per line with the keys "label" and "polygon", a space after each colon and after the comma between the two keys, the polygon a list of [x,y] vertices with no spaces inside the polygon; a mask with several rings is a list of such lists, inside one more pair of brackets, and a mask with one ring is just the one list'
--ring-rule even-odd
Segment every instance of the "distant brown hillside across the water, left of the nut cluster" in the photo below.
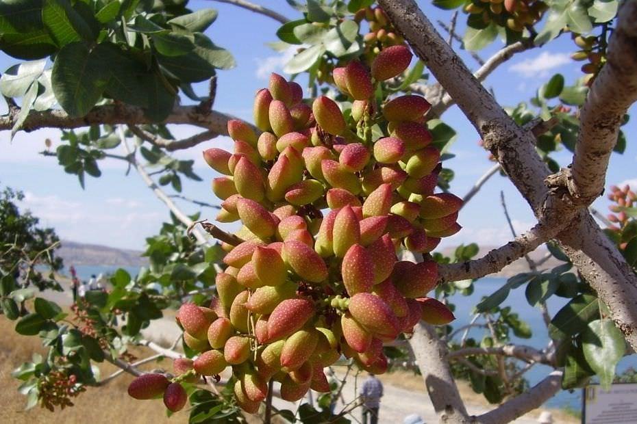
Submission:
{"label": "distant brown hillside across the water, left of the nut cluster", "polygon": [[142,252],[139,250],[117,249],[68,240],[62,240],[62,246],[56,253],[64,259],[64,264],[67,267],[70,265],[118,265],[134,267],[146,265],[148,262],[146,258],[142,258]]}

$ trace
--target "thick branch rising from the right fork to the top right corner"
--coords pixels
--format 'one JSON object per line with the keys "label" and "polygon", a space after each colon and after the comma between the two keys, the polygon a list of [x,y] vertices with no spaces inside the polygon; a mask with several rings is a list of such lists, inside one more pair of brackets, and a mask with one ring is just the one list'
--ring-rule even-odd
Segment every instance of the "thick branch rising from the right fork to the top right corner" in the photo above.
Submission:
{"label": "thick branch rising from the right fork to the top right corner", "polygon": [[608,159],[630,105],[637,101],[637,1],[624,1],[608,43],[608,62],[592,83],[579,111],[579,135],[569,193],[577,204],[588,205],[604,189]]}

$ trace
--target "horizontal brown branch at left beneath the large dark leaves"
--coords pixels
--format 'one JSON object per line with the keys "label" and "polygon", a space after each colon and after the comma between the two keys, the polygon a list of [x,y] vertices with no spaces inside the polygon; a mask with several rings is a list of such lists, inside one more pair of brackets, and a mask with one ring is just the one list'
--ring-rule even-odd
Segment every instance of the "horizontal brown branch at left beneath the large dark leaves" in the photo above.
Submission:
{"label": "horizontal brown branch at left beneath the large dark leaves", "polygon": [[[18,109],[19,112],[19,109]],[[0,117],[0,130],[12,129],[18,118],[17,113]],[[191,124],[210,131],[227,135],[228,121],[234,117],[217,111],[201,113],[197,106],[177,106],[164,120],[164,124]],[[85,116],[68,116],[60,109],[47,111],[29,111],[22,129],[27,133],[41,128],[72,129],[88,127],[92,124],[151,124],[144,116],[144,109],[129,105],[99,105],[91,109]],[[154,122],[156,123],[156,122]]]}

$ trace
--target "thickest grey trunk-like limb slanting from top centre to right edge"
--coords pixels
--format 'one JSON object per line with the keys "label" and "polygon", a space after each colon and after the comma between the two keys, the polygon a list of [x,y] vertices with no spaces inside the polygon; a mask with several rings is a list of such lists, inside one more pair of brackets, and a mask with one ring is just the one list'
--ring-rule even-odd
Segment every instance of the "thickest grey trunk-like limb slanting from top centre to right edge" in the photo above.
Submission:
{"label": "thickest grey trunk-like limb slanting from top centre to right edge", "polygon": [[[629,12],[626,15],[632,16],[630,11],[634,10],[635,1],[631,0],[630,5],[624,6],[629,8],[625,10]],[[538,220],[550,226],[568,225],[557,237],[562,241],[564,252],[609,307],[612,319],[630,345],[637,348],[637,276],[588,211],[577,210],[563,191],[548,191],[545,179],[549,176],[549,170],[536,153],[534,135],[531,131],[519,128],[496,103],[436,33],[413,0],[379,0],[379,4],[471,120],[482,135],[484,146],[497,158],[512,183],[531,205]],[[611,42],[616,40],[621,38],[614,37]],[[621,44],[621,41],[616,43]],[[578,249],[580,247],[581,251]],[[446,265],[449,266],[457,267],[458,264]],[[450,270],[442,268],[442,271],[444,280]],[[457,273],[455,276],[472,274],[469,268],[453,271]],[[453,274],[451,272],[451,277],[454,277]]]}

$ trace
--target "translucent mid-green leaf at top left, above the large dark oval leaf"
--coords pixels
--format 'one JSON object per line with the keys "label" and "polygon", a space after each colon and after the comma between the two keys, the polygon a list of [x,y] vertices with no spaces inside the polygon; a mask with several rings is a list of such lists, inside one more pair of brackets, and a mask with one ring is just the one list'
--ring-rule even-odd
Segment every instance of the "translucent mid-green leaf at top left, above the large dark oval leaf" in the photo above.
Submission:
{"label": "translucent mid-green leaf at top left, above the large dark oval leaf", "polygon": [[74,41],[94,41],[92,31],[84,18],[77,13],[68,0],[44,0],[42,21],[51,32],[58,47]]}

